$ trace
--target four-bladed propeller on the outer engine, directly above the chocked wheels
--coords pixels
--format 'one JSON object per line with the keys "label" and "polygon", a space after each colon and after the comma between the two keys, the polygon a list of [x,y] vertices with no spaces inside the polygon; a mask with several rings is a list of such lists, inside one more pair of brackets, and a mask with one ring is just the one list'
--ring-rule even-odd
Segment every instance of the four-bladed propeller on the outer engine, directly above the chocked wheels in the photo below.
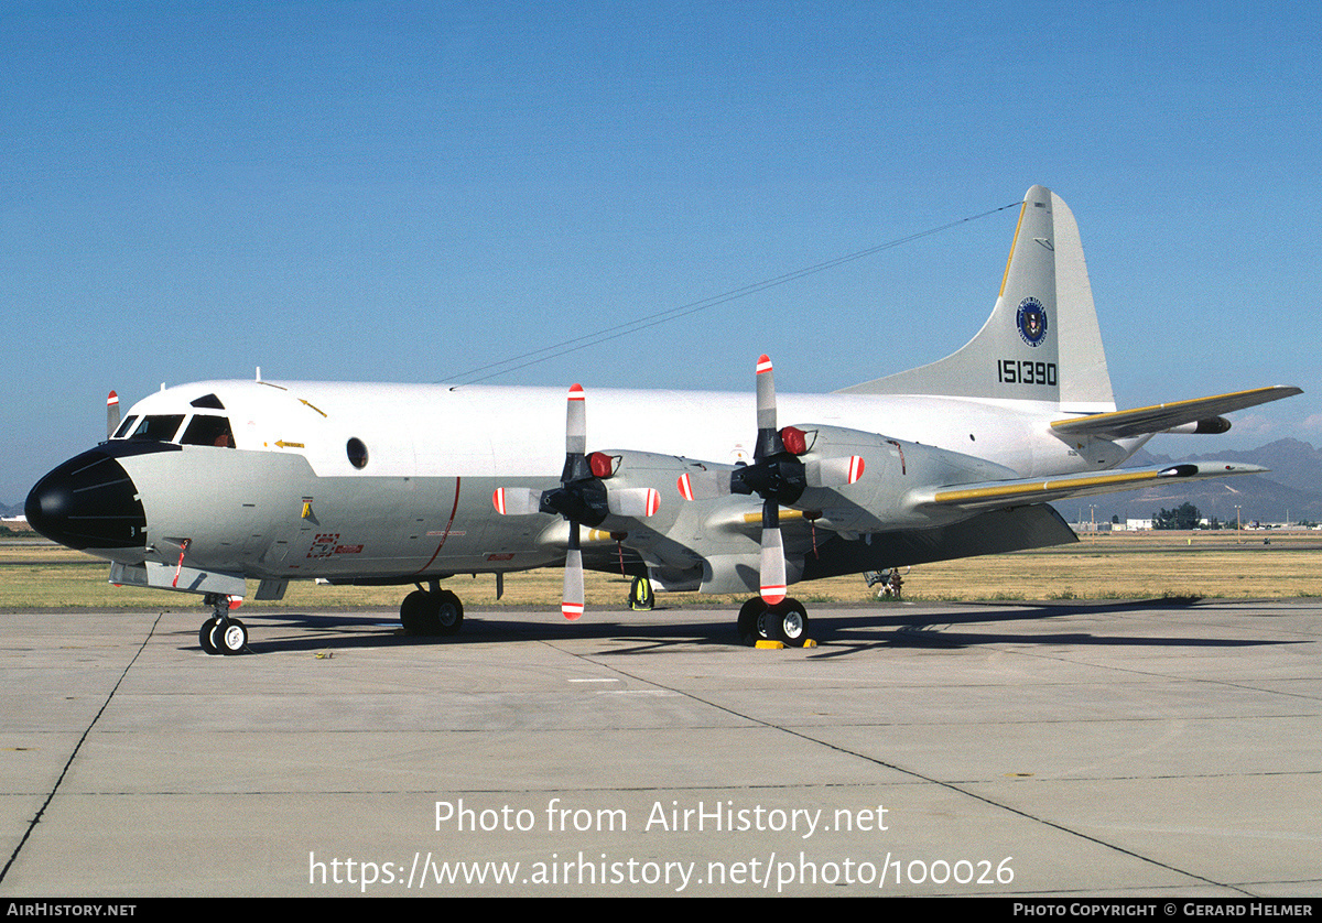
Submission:
{"label": "four-bladed propeller on the outer engine, directly above the chocked wheels", "polygon": [[863,476],[863,459],[820,459],[804,463],[812,446],[809,434],[787,426],[776,428],[776,380],[771,358],[758,357],[758,442],[752,464],[736,467],[728,479],[720,472],[686,472],[680,493],[686,500],[706,500],[730,493],[761,497],[760,595],[768,606],[785,598],[785,546],[780,537],[780,508],[792,506],[809,487],[843,487]]}

